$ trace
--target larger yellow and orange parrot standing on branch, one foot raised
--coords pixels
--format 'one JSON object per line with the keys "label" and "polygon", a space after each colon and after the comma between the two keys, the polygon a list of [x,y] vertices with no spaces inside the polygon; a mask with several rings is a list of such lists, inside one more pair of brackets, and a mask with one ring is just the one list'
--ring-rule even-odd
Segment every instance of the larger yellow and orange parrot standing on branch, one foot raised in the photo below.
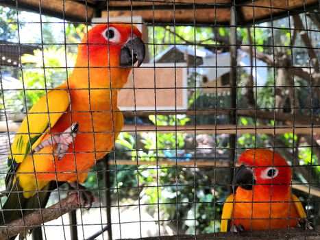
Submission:
{"label": "larger yellow and orange parrot standing on branch, one foot raised", "polygon": [[86,206],[92,204],[93,195],[81,183],[114,146],[123,127],[118,92],[133,64],[140,66],[144,58],[141,33],[130,24],[99,24],[88,31],[73,73],[34,104],[16,133],[1,225],[44,208],[61,182],[81,190]]}

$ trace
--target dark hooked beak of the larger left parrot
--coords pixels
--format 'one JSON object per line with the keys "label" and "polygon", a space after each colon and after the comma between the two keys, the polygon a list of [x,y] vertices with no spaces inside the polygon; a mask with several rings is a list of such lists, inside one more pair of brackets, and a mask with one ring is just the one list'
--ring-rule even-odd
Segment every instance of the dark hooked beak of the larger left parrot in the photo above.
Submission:
{"label": "dark hooked beak of the larger left parrot", "polygon": [[121,48],[120,66],[132,67],[138,61],[138,67],[145,59],[145,43],[138,36],[133,36]]}

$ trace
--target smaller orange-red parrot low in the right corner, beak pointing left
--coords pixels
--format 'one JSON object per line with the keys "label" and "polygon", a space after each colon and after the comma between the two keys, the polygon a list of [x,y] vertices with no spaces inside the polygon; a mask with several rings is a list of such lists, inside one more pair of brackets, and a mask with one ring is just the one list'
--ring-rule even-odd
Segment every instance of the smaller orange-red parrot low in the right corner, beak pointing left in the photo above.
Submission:
{"label": "smaller orange-red parrot low in the right corner, beak pointing left", "polygon": [[292,193],[292,168],[280,154],[249,149],[241,154],[239,164],[234,176],[238,187],[223,205],[221,232],[295,226],[314,229]]}

